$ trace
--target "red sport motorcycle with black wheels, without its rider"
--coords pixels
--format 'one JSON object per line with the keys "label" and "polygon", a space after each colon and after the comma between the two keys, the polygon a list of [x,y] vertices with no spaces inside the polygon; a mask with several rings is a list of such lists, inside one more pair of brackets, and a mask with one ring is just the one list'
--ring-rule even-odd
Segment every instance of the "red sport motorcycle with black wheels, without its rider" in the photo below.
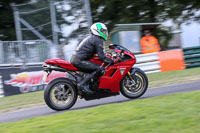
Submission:
{"label": "red sport motorcycle with black wheels, without its rider", "polygon": [[79,96],[85,100],[94,100],[104,97],[116,96],[120,92],[127,98],[138,98],[148,88],[148,78],[139,68],[134,68],[136,63],[134,54],[120,45],[110,45],[113,52],[109,54],[112,58],[120,58],[116,64],[106,64],[94,56],[90,61],[100,64],[106,68],[106,72],[99,79],[92,79],[89,88],[93,94],[86,94],[77,88],[86,73],[80,72],[76,67],[62,59],[48,59],[43,64],[46,74],[43,80],[54,71],[67,72],[67,77],[60,77],[47,84],[44,91],[46,104],[57,111],[71,108]]}

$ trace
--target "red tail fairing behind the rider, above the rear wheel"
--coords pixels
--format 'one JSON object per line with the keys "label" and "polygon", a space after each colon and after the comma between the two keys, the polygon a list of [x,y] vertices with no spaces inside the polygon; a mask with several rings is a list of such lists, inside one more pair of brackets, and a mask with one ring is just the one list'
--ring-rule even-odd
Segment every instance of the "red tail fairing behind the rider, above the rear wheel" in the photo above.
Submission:
{"label": "red tail fairing behind the rider, above the rear wheel", "polygon": [[60,66],[62,68],[68,69],[68,70],[74,70],[74,71],[78,70],[71,63],[69,63],[69,62],[67,62],[65,60],[59,59],[59,58],[48,59],[48,60],[45,61],[45,63],[47,63],[47,64],[53,64],[53,65],[58,65],[58,66]]}

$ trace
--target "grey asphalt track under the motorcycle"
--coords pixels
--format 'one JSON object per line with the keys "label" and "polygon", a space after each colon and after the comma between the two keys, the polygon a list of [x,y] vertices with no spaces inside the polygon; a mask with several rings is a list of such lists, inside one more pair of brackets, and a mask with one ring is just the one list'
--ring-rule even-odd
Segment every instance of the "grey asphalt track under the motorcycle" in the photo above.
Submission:
{"label": "grey asphalt track under the motorcycle", "polygon": [[[168,94],[173,94],[173,93],[178,93],[178,92],[188,92],[188,91],[197,91],[197,90],[200,91],[200,81],[177,84],[177,85],[169,85],[169,86],[164,86],[164,87],[149,88],[147,92],[141,98],[150,98],[150,97],[168,95]],[[91,108],[91,107],[100,106],[104,104],[121,103],[121,102],[126,102],[126,101],[130,101],[130,99],[127,99],[122,95],[103,98],[99,100],[92,100],[92,101],[85,101],[85,100],[78,99],[76,104],[70,110],[67,110],[67,111]],[[19,121],[19,120],[39,117],[39,116],[54,115],[54,114],[67,112],[67,111],[57,112],[48,108],[47,106],[42,106],[38,108],[32,108],[32,109],[0,114],[0,123]]]}

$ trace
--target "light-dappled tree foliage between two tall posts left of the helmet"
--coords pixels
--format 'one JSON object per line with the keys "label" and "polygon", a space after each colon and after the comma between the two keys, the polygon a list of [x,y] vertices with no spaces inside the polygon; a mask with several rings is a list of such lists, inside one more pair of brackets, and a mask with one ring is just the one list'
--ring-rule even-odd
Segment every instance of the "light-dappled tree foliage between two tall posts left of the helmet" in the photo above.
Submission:
{"label": "light-dappled tree foliage between two tall posts left of the helmet", "polygon": [[[59,23],[64,44],[81,41],[88,33],[88,23],[83,0],[63,0],[57,14],[64,21]],[[58,17],[58,16],[57,16]],[[60,18],[60,19],[61,19]]]}

